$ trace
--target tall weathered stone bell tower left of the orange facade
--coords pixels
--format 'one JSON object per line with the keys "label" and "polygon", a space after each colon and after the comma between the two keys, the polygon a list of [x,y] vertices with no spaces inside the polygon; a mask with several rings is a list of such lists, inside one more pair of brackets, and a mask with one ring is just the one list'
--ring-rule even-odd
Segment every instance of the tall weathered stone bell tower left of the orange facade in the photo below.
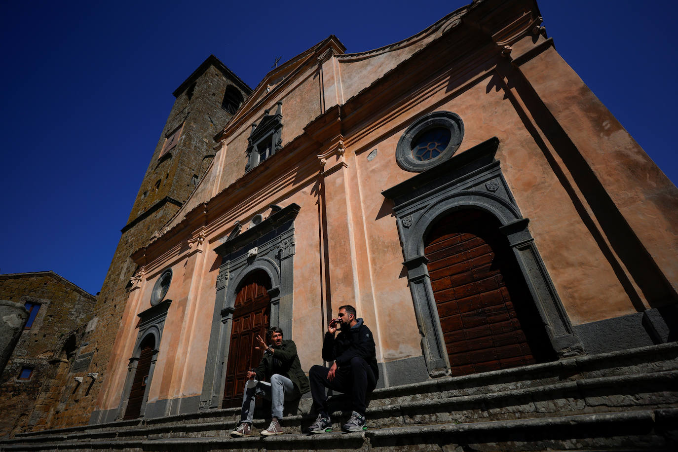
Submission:
{"label": "tall weathered stone bell tower left of the orange facade", "polygon": [[[121,229],[122,236],[97,297],[94,319],[78,350],[79,356],[89,358],[87,372],[98,373],[98,378],[86,394],[69,398],[57,409],[50,428],[89,421],[107,376],[106,365],[125,310],[130,278],[136,270],[129,256],[148,243],[188,199],[214,158],[214,136],[251,92],[245,82],[213,55],[174,91],[174,106],[127,224]],[[64,385],[68,386],[71,380],[73,375],[69,374]]]}

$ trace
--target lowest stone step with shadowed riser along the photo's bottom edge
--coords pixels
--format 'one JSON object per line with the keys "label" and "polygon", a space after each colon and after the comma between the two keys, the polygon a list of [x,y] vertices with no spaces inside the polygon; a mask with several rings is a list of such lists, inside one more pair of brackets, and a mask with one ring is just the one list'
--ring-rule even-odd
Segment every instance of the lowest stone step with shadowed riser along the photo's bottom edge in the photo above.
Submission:
{"label": "lowest stone step with shadowed riser along the photo's bottom edge", "polygon": [[362,433],[273,437],[53,441],[6,451],[675,451],[678,409],[635,410],[474,424],[378,428]]}

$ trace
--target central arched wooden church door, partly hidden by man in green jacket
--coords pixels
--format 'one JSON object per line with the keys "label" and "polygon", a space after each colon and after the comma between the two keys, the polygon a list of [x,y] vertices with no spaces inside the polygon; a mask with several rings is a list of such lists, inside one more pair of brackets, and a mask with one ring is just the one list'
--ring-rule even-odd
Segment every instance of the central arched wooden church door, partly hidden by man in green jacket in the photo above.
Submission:
{"label": "central arched wooden church door, partly hidden by man in green jacket", "polygon": [[257,367],[263,356],[263,350],[254,348],[258,346],[255,337],[261,335],[266,338],[271,316],[270,287],[268,275],[257,271],[245,277],[235,296],[223,408],[239,407],[242,404],[247,369]]}

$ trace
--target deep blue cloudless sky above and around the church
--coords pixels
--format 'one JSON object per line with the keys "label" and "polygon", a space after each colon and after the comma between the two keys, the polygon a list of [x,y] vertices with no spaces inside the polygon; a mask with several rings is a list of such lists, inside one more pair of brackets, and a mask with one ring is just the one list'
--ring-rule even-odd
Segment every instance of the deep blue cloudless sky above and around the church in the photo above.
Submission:
{"label": "deep blue cloudless sky above and around the church", "polygon": [[[0,273],[100,290],[172,91],[210,54],[255,87],[330,34],[362,52],[468,1],[2,1]],[[674,183],[677,3],[539,2],[557,51]]]}

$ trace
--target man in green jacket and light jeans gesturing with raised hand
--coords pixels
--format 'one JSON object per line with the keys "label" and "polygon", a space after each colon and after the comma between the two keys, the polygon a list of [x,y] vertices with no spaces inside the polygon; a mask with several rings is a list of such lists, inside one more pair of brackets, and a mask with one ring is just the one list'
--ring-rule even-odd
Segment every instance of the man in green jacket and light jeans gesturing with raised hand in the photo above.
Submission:
{"label": "man in green jacket and light jeans gesturing with raised hand", "polygon": [[[283,403],[285,400],[300,398],[302,394],[311,390],[308,377],[304,375],[296,352],[293,340],[283,340],[283,330],[273,327],[268,330],[272,345],[266,344],[257,336],[257,340],[264,349],[259,367],[254,372],[247,371],[247,383],[243,392],[243,409],[240,414],[240,424],[231,436],[250,436],[252,434],[252,417],[254,416],[254,396],[263,396],[271,400],[271,425],[261,432],[265,436],[281,434],[280,418],[283,417]],[[259,347],[257,347],[259,348]],[[270,384],[266,383],[270,381]]]}

